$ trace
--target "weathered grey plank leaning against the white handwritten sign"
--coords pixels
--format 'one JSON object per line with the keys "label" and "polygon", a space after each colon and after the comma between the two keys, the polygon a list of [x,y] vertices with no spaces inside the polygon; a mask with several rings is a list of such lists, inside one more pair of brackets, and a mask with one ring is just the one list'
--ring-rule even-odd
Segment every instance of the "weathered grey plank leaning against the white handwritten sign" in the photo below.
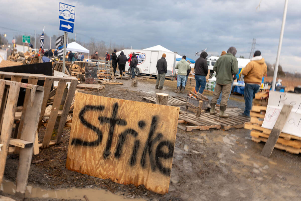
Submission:
{"label": "weathered grey plank leaning against the white handwritten sign", "polygon": [[283,105],[281,112],[276,120],[276,123],[275,123],[260,155],[263,155],[267,158],[269,158],[271,156],[272,151],[275,147],[275,144],[281,133],[281,130],[283,129],[284,124],[286,123],[287,117],[290,114],[290,111],[292,110],[292,108],[293,108],[293,106]]}

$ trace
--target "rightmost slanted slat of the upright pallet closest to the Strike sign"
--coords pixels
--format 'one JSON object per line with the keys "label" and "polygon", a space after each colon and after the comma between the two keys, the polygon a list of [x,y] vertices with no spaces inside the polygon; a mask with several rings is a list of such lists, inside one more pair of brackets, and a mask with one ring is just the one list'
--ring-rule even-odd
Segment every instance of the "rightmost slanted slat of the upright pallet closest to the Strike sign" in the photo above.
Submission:
{"label": "rightmost slanted slat of the upright pallet closest to the Strike sign", "polygon": [[76,86],[77,86],[77,80],[72,80],[70,83],[70,86],[69,86],[68,94],[66,97],[66,101],[65,101],[65,104],[63,107],[60,123],[59,123],[58,130],[57,130],[57,139],[56,139],[57,144],[59,144],[61,141],[61,135],[64,130],[64,126],[65,126],[66,119],[67,119],[67,116],[69,113],[70,105],[71,105],[73,97],[74,97]]}

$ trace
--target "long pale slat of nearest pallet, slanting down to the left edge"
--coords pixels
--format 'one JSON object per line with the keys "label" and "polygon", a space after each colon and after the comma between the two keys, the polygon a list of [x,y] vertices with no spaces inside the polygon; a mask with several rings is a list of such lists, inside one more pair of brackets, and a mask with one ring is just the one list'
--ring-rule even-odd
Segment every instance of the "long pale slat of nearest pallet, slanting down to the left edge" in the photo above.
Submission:
{"label": "long pale slat of nearest pallet, slanting down to the left edge", "polygon": [[9,139],[13,130],[14,114],[17,107],[20,85],[21,83],[19,82],[11,83],[7,98],[7,104],[4,111],[5,124],[2,125],[0,136],[0,144],[3,144],[1,149],[2,151],[0,154],[0,184],[2,183],[3,179],[6,157],[8,153]]}

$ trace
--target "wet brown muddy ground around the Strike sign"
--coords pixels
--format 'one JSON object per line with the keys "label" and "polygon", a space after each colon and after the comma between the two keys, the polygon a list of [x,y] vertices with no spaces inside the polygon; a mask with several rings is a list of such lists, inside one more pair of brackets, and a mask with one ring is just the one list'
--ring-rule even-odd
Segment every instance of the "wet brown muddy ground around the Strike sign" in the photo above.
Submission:
{"label": "wet brown muddy ground around the Strike sign", "polygon": [[[141,81],[131,87],[106,85],[99,92],[81,91],[99,96],[142,101],[143,96],[154,96],[155,80]],[[194,81],[191,81],[194,83]],[[173,93],[176,82],[166,80],[165,93]],[[186,87],[187,91],[194,86]],[[205,93],[210,96],[210,93]],[[184,96],[180,94],[180,96]],[[232,96],[229,105],[244,107],[242,96]],[[45,128],[40,130],[39,140]],[[250,130],[228,131],[178,129],[172,162],[169,193],[160,195],[143,186],[116,184],[110,180],[69,171],[65,168],[70,129],[65,128],[62,142],[57,146],[40,149],[33,156],[28,185],[44,189],[95,188],[106,189],[127,198],[145,200],[300,200],[301,157],[275,149],[269,159],[260,156],[263,143],[250,139]],[[40,160],[43,160],[39,162]],[[18,158],[10,155],[5,178],[15,181]],[[30,201],[61,200],[27,198]],[[82,199],[84,200],[84,199]]]}

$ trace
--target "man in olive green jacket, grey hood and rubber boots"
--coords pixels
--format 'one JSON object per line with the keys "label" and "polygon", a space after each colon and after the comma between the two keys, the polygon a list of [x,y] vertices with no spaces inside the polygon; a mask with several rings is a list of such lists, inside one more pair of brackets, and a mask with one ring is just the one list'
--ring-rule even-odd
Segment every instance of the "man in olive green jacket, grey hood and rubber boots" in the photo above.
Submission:
{"label": "man in olive green jacket, grey hood and rubber boots", "polygon": [[216,114],[215,105],[220,93],[222,92],[219,117],[228,117],[228,115],[225,114],[228,104],[228,96],[231,93],[233,77],[238,73],[238,61],[235,55],[236,49],[234,47],[230,47],[227,54],[222,55],[214,64],[213,71],[216,71],[216,85],[211,100],[210,115]]}

